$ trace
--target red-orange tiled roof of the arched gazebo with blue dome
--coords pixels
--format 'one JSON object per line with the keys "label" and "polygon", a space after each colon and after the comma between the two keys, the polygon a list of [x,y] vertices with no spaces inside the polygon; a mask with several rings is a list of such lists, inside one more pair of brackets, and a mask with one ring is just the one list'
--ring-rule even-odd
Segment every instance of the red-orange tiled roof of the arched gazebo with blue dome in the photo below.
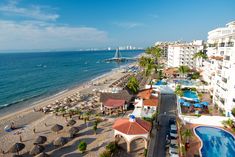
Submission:
{"label": "red-orange tiled roof of the arched gazebo with blue dome", "polygon": [[127,135],[146,134],[151,130],[151,123],[140,118],[136,118],[134,122],[130,122],[129,118],[117,119],[113,125],[113,129]]}

